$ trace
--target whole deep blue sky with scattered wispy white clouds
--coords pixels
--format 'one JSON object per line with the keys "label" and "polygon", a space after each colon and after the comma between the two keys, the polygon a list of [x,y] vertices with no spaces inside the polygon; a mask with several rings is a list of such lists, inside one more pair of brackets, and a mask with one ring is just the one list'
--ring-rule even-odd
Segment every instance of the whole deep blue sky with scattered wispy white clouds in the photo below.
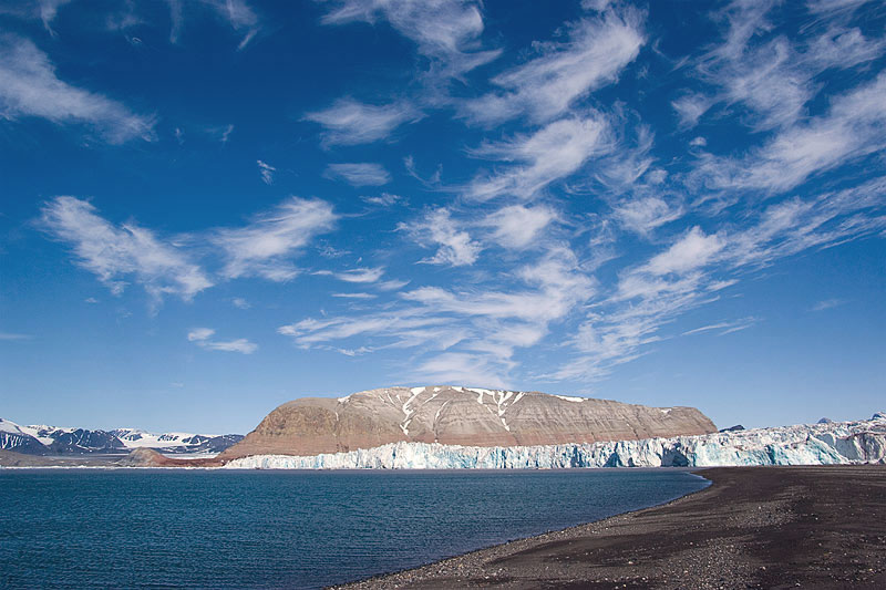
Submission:
{"label": "whole deep blue sky with scattered wispy white clouds", "polygon": [[0,2],[0,415],[886,400],[886,8]]}

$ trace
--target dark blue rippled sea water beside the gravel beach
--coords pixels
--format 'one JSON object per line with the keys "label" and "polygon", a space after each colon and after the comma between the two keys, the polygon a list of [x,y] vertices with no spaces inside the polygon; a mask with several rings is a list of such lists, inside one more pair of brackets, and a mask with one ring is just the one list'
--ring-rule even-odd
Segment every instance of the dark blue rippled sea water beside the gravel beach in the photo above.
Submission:
{"label": "dark blue rippled sea water beside the gravel beach", "polygon": [[705,485],[663,469],[0,469],[0,586],[317,588]]}

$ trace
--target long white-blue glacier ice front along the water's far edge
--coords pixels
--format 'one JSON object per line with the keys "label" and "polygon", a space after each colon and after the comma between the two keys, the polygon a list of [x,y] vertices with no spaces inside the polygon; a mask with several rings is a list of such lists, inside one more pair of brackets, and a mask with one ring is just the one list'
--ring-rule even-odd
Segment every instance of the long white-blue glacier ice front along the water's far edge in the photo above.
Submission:
{"label": "long white-blue glacier ice front along the water's far edge", "polygon": [[886,463],[886,414],[872,420],[801,424],[673,438],[538,446],[391,443],[313,456],[253,455],[241,469],[549,469],[712,467]]}

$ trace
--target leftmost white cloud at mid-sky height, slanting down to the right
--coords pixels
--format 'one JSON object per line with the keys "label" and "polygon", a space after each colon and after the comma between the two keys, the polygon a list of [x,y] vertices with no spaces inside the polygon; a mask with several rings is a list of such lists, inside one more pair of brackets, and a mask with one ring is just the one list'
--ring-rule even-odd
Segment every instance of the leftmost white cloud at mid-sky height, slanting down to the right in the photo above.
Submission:
{"label": "leftmost white cloud at mid-sky height, slanting down to the right", "polygon": [[155,303],[166,294],[188,301],[214,284],[172,241],[134,222],[115,226],[85,200],[55,197],[43,204],[39,222],[54,238],[69,244],[78,265],[116,294],[123,292],[127,281],[135,281]]}

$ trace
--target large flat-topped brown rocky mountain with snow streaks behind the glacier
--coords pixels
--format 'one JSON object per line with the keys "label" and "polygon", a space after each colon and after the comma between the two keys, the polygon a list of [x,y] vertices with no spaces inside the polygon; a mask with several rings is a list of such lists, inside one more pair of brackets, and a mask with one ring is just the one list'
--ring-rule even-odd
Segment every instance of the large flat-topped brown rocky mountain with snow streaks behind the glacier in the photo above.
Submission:
{"label": "large flat-topped brown rocky mountain with snow streaks behind the glacier", "polygon": [[341,453],[398,442],[526,446],[713,432],[693,407],[459,386],[387,387],[286,403],[218,458]]}

